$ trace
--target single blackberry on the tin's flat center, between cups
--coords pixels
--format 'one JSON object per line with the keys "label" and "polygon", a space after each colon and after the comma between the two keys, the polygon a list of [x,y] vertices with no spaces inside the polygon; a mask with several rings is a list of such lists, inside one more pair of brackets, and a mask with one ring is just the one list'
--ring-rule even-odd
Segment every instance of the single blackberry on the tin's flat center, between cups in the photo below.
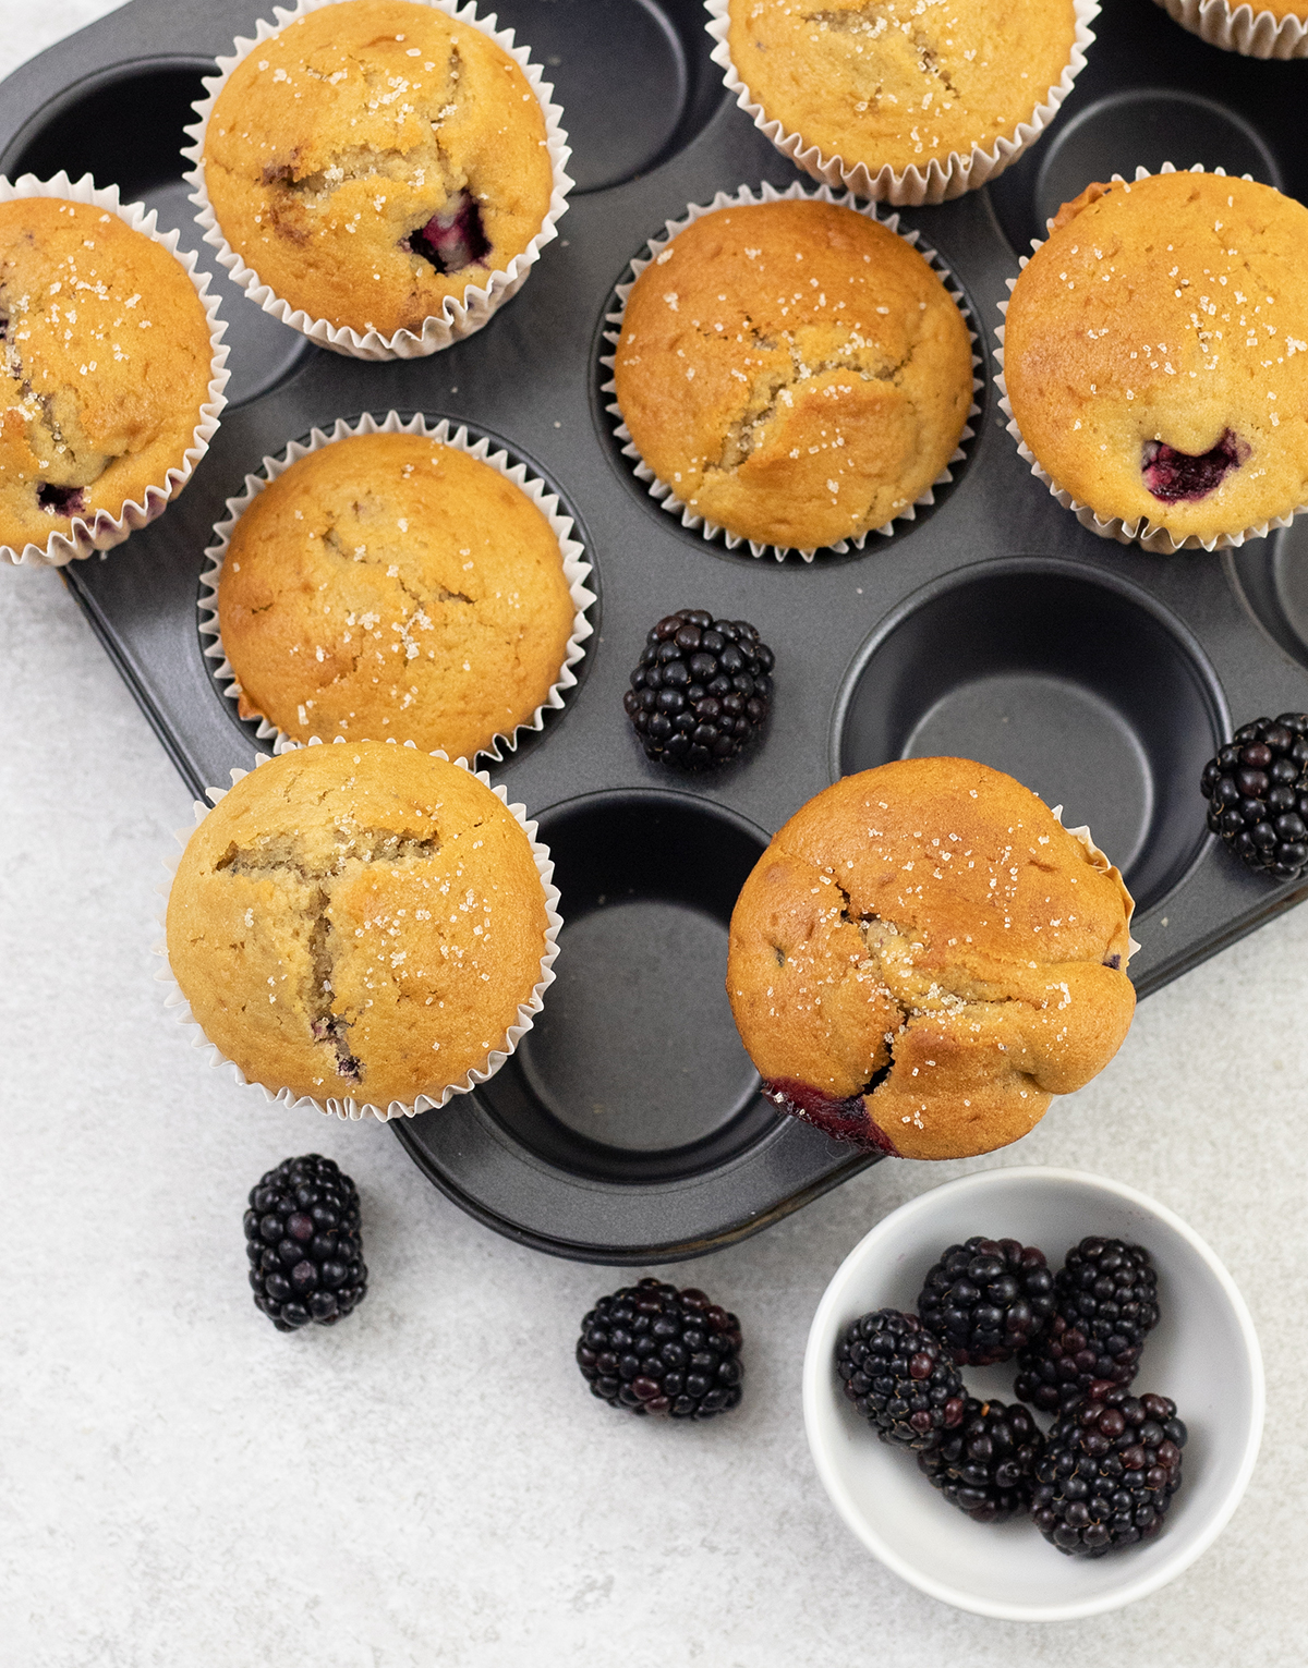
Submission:
{"label": "single blackberry on the tin's flat center, between cups", "polygon": [[646,756],[681,771],[727,764],[762,729],[772,651],[747,620],[669,614],[646,637],[622,706]]}

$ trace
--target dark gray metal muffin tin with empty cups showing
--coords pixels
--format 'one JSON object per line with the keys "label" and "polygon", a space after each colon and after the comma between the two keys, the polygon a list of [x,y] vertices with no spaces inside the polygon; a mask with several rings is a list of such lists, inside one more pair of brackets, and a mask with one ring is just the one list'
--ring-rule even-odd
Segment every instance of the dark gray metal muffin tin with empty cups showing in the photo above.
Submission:
{"label": "dark gray metal muffin tin with empty cups showing", "polygon": [[[212,262],[180,182],[182,128],[214,55],[264,10],[132,0],[60,42],[0,90],[0,170],[117,180]],[[577,180],[522,294],[447,352],[370,365],[310,347],[219,270],[234,377],[210,455],[158,522],[65,580],[199,796],[265,746],[197,629],[204,547],[265,454],[337,417],[422,410],[490,435],[559,494],[594,562],[596,636],[564,707],[492,769],[557,864],[559,981],[499,1076],[395,1133],[501,1233],[561,1256],[671,1261],[876,1161],[761,1098],[722,991],[741,882],[838,774],[959,752],[1089,822],[1139,901],[1139,994],[1308,894],[1231,861],[1198,792],[1233,724],[1308,709],[1308,522],[1213,555],[1099,540],[1031,477],[988,382],[953,484],[893,537],[812,564],[706,544],[612,435],[604,317],[631,257],[687,203],[796,173],[726,98],[699,0],[497,12],[554,77]],[[1016,252],[1091,178],[1203,162],[1308,198],[1308,67],[1205,47],[1153,0],[1104,0],[1096,32],[1039,145],[986,190],[903,217],[953,270],[986,354]],[[712,777],[647,764],[622,716],[646,631],[677,607],[749,619],[777,654],[762,746]]]}

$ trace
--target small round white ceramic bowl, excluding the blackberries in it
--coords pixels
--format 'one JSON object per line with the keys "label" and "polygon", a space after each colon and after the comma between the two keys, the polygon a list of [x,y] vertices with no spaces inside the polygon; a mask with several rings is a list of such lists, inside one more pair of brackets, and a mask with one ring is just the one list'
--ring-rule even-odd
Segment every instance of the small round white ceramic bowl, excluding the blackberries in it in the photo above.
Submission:
{"label": "small round white ceramic bowl, excluding the blackberries in it", "polygon": [[[973,1523],[879,1441],[844,1396],[836,1344],[869,1309],[914,1309],[949,1244],[986,1234],[1039,1246],[1051,1268],[1086,1234],[1143,1244],[1161,1319],[1138,1393],[1171,1396],[1190,1441],[1158,1540],[1069,1558],[1026,1520]],[[964,1368],[974,1394],[1013,1401],[1013,1364]],[[1048,1423],[1048,1421],[1046,1421]],[[1178,1576],[1235,1511],[1263,1434],[1263,1358],[1235,1281],[1200,1236],[1155,1199],[1071,1169],[988,1169],[921,1194],[861,1239],[818,1304],[804,1356],[804,1424],[833,1505],[869,1551],[933,1598],[981,1616],[1061,1621],[1129,1605]]]}

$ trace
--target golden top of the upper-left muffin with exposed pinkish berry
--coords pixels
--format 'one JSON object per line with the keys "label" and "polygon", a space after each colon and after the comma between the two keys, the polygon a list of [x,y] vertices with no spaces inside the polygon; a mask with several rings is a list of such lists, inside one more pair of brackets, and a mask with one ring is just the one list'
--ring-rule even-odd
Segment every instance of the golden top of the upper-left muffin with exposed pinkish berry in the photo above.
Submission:
{"label": "golden top of the upper-left muffin with exposed pinkish berry", "polygon": [[552,163],[541,103],[489,35],[412,0],[342,0],[232,70],[204,178],[279,297],[394,335],[526,250]]}

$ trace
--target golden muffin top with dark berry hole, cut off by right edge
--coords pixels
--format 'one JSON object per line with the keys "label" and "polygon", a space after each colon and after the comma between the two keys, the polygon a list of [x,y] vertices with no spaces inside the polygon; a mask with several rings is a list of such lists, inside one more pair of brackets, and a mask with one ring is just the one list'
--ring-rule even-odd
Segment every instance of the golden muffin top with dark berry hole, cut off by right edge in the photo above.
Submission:
{"label": "golden muffin top with dark berry hole, cut off by right edge", "polygon": [[1270,185],[1089,185],[1004,320],[1013,417],[1056,485],[1173,539],[1308,502],[1308,208]]}

